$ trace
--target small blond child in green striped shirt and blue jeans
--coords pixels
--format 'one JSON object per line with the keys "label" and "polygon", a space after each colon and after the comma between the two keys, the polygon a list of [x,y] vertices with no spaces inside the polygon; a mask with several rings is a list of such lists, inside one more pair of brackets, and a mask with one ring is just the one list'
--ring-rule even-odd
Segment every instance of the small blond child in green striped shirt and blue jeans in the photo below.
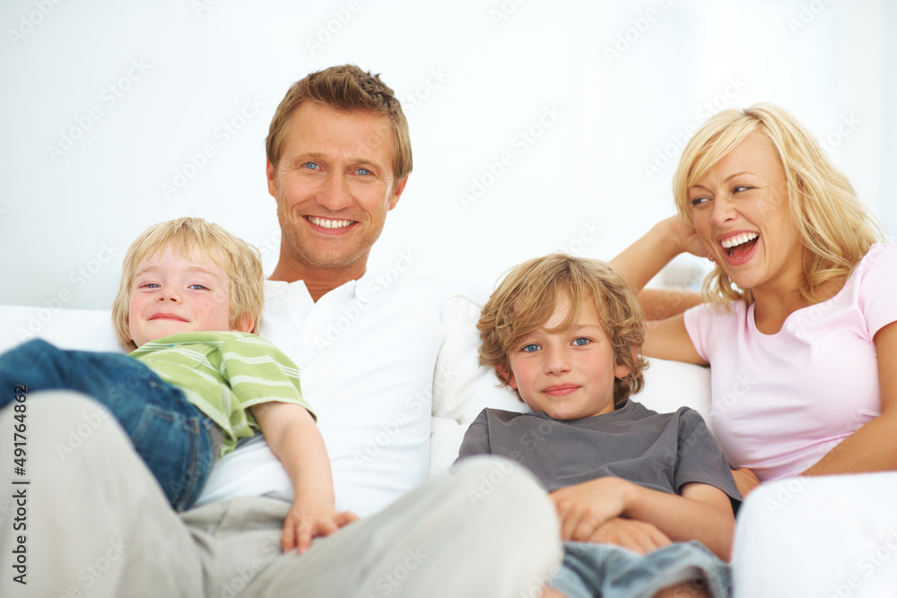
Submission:
{"label": "small blond child in green striped shirt and blue jeans", "polygon": [[284,551],[304,552],[357,519],[335,509],[299,368],[253,334],[264,306],[257,250],[213,223],[180,218],[144,231],[122,270],[112,320],[129,355],[34,340],[0,355],[0,384],[77,390],[103,403],[179,511],[196,502],[214,462],[260,429],[295,490]]}

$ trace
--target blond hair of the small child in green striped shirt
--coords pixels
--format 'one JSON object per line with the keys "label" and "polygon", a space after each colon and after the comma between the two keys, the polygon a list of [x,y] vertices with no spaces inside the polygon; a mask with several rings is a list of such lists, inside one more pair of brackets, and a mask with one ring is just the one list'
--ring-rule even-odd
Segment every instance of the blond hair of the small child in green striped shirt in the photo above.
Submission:
{"label": "blond hair of the small child in green striped shirt", "polygon": [[255,324],[250,332],[257,332],[265,307],[265,275],[258,249],[213,222],[202,218],[179,218],[152,225],[127,248],[118,295],[112,303],[112,325],[122,347],[127,351],[137,348],[128,326],[137,266],[168,247],[184,257],[192,257],[198,250],[200,255],[220,265],[231,279],[231,330],[237,330],[240,323],[251,317]]}

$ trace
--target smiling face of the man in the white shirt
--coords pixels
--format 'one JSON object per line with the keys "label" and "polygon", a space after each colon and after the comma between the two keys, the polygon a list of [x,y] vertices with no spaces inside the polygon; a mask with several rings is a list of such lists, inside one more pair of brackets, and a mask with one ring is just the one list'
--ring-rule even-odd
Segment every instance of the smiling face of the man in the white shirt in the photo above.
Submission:
{"label": "smiling face of the man in the white shirt", "polygon": [[290,117],[268,191],[283,233],[281,263],[293,271],[364,273],[370,247],[396,207],[405,179],[392,169],[388,117],[304,102]]}

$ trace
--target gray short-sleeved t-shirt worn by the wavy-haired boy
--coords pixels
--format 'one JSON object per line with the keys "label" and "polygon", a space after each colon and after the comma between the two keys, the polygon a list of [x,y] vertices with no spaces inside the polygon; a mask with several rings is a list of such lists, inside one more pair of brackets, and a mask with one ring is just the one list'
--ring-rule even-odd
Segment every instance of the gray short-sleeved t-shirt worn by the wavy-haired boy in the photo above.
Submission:
{"label": "gray short-sleeved t-shirt worn by the wavy-haired boy", "polygon": [[658,413],[626,401],[614,412],[563,421],[484,409],[467,429],[458,459],[482,454],[525,465],[549,492],[614,476],[674,494],[701,482],[741,500],[726,457],[689,407]]}

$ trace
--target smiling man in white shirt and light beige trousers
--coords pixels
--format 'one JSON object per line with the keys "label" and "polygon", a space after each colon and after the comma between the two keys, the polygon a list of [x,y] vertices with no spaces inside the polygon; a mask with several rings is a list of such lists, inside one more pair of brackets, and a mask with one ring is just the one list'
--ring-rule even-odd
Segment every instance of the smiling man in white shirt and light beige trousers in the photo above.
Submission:
{"label": "smiling man in white shirt and light beige trousers", "polygon": [[[389,109],[344,103],[353,94]],[[283,247],[262,334],[300,365],[337,507],[361,521],[302,556],[282,554],[285,474],[260,443],[222,460],[205,504],[179,516],[97,403],[35,394],[17,403],[26,405],[30,483],[13,483],[23,479],[12,464],[0,468],[19,509],[0,535],[4,562],[13,555],[0,594],[538,594],[560,543],[553,507],[528,474],[487,460],[424,482],[430,410],[421,397],[433,384],[437,320],[415,304],[410,282],[366,272],[411,170],[392,91],[354,66],[311,74],[278,108],[268,146]],[[21,411],[0,412],[4,447]],[[225,499],[238,493],[248,496]],[[521,514],[525,526],[515,523]],[[13,579],[20,570],[27,585]]]}

